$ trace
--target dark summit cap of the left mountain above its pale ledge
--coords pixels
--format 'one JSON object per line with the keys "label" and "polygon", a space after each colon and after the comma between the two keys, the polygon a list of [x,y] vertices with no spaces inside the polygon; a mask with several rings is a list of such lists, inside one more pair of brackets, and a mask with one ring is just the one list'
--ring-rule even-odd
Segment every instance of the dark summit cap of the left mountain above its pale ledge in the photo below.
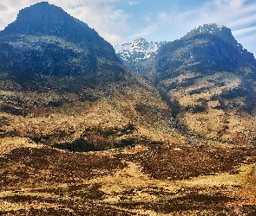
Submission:
{"label": "dark summit cap of the left mountain above its pale ledge", "polygon": [[[70,16],[62,8],[48,2],[36,3],[30,7],[20,10],[16,21],[11,22],[3,31],[0,37],[17,35],[32,36],[53,36],[62,38],[65,41],[80,43],[85,48],[94,47],[95,50],[105,46],[104,51],[99,50],[98,54],[114,56],[112,46],[105,41],[95,29],[89,28],[88,24]],[[109,54],[111,53],[114,54]],[[116,59],[116,57],[114,58]]]}

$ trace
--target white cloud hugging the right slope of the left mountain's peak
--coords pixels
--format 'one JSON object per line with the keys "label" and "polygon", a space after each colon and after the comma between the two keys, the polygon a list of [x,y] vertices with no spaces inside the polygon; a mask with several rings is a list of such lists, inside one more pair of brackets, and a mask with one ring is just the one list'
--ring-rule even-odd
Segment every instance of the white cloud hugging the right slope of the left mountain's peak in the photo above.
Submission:
{"label": "white cloud hugging the right slope of the left mountain's peak", "polygon": [[[123,10],[115,9],[116,0],[52,0],[50,3],[61,4],[71,16],[88,23],[106,41],[116,44],[121,42],[121,34],[128,31],[127,20],[131,16]],[[63,5],[63,6],[62,6]]]}

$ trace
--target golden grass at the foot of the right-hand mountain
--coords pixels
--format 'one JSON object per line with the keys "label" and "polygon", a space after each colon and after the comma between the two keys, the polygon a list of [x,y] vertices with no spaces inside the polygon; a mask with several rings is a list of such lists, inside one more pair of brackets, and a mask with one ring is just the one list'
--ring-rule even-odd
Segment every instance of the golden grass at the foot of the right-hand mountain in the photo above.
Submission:
{"label": "golden grass at the foot of the right-hand mountain", "polygon": [[252,144],[256,134],[255,118],[237,111],[207,108],[206,112],[186,112],[182,119],[196,134],[219,137],[239,145]]}

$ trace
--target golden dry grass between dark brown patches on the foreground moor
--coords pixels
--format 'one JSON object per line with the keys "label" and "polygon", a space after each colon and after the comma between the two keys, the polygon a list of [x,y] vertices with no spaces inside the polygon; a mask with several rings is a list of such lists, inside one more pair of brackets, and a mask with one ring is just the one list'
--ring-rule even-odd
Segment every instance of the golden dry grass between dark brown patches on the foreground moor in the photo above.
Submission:
{"label": "golden dry grass between dark brown patches on the foreground moor", "polygon": [[[31,207],[38,210],[51,208],[62,209],[61,203],[73,203],[75,201],[75,206],[72,206],[73,204],[67,206],[69,211],[76,211],[75,207],[77,207],[77,205],[87,203],[87,205],[99,205],[97,206],[99,208],[97,210],[99,214],[96,215],[100,215],[100,211],[102,211],[100,209],[106,208],[106,206],[111,206],[117,211],[124,211],[128,215],[129,213],[137,213],[138,215],[214,215],[218,213],[218,211],[224,211],[223,209],[233,211],[233,206],[240,205],[240,209],[242,209],[246,203],[256,205],[255,200],[253,200],[255,190],[251,189],[250,194],[248,194],[248,189],[246,188],[246,185],[248,185],[250,181],[250,175],[252,175],[252,168],[255,163],[247,165],[240,164],[240,166],[236,168],[238,172],[235,174],[217,172],[215,175],[200,175],[186,180],[176,181],[167,178],[156,179],[153,178],[152,175],[145,173],[145,170],[142,168],[142,166],[144,166],[143,163],[141,161],[135,162],[135,157],[145,154],[154,155],[153,149],[158,150],[158,148],[161,148],[163,152],[167,152],[167,149],[170,149],[170,151],[174,151],[174,154],[177,156],[182,156],[188,149],[192,151],[198,150],[188,148],[185,145],[176,144],[160,146],[138,144],[134,147],[110,149],[99,152],[75,153],[75,155],[58,150],[57,152],[59,153],[56,152],[55,154],[60,154],[63,158],[65,157],[63,160],[69,160],[70,165],[72,160],[74,160],[74,162],[77,160],[75,159],[76,157],[79,157],[79,161],[82,162],[82,157],[99,158],[100,160],[101,158],[107,157],[111,160],[115,160],[116,157],[121,156],[122,158],[126,156],[123,158],[127,159],[123,159],[122,161],[126,166],[116,168],[111,174],[108,174],[104,169],[98,169],[98,165],[95,164],[95,168],[92,168],[92,171],[102,173],[102,176],[95,176],[93,178],[84,177],[76,183],[75,178],[73,182],[69,183],[43,184],[42,182],[42,184],[37,184],[36,187],[33,187],[34,175],[31,175],[31,181],[26,181],[21,184],[19,186],[21,189],[16,190],[10,187],[13,189],[9,191],[2,190],[0,193],[0,206],[2,206],[4,213],[10,213],[11,210],[17,213],[17,211],[24,209],[30,211]],[[167,149],[165,150],[165,148]],[[227,150],[225,146],[219,148],[219,150],[223,151],[230,150],[230,154],[233,155],[232,149]],[[32,152],[34,152],[34,150]],[[50,152],[48,154],[50,154]],[[50,155],[48,155],[48,157],[49,156]],[[169,156],[171,155],[162,154],[162,157],[158,159],[160,161],[155,161],[155,163],[152,164],[159,166],[157,162],[168,160]],[[35,159],[36,158],[34,158],[34,160]],[[49,160],[51,160],[50,157]],[[155,160],[154,157],[152,157],[152,160]],[[252,161],[253,158],[250,160]],[[24,162],[27,161],[27,159],[24,160]],[[99,162],[99,164],[101,164],[101,161]],[[50,170],[51,168],[57,168],[55,167],[56,165],[57,164],[53,161],[52,165],[49,167],[49,172],[40,172],[37,175],[42,175],[44,178],[48,176],[46,178],[50,179],[51,175],[53,175]],[[184,166],[186,164],[182,163],[181,165]],[[195,165],[196,164],[192,163],[189,166]],[[210,166],[210,164],[207,164],[207,166],[208,165]],[[61,164],[57,166],[61,166]],[[28,168],[30,168],[30,166],[28,166]],[[166,167],[165,170],[167,169]],[[22,185],[26,187],[22,187]],[[99,186],[98,189],[92,189],[95,186]],[[97,194],[101,195],[98,196]],[[233,198],[236,200],[230,200]],[[20,200],[14,201],[15,199]],[[213,201],[216,201],[216,203],[213,204]],[[159,208],[158,206],[161,207]],[[218,207],[215,208],[215,206]],[[181,209],[179,210],[179,208]]]}

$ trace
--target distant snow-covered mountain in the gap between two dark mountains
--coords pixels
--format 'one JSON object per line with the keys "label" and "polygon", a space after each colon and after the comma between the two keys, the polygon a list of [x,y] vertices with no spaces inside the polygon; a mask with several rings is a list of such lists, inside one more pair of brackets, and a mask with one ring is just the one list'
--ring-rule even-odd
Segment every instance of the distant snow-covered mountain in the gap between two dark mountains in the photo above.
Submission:
{"label": "distant snow-covered mountain in the gap between two dark mountains", "polygon": [[154,57],[158,48],[167,41],[153,42],[146,41],[144,38],[137,38],[135,41],[127,42],[121,45],[115,45],[115,52],[118,54],[122,63],[128,69],[134,70],[137,73],[142,73],[141,66],[145,60]]}

